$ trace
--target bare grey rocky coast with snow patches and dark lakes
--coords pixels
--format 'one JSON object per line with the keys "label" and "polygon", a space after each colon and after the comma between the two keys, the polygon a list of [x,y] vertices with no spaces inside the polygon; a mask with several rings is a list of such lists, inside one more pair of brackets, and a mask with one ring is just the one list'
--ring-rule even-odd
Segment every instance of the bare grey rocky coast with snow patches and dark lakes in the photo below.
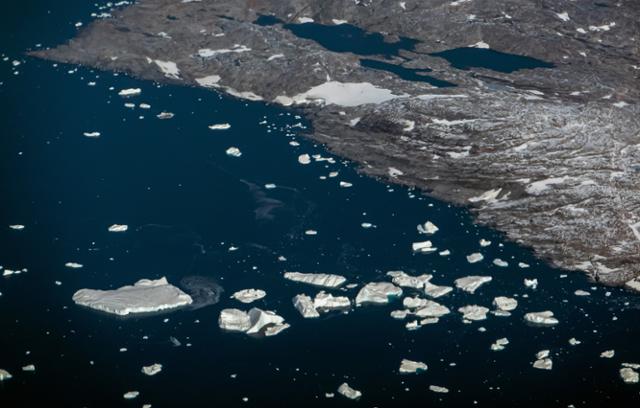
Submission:
{"label": "bare grey rocky coast with snow patches and dark lakes", "polygon": [[[306,104],[309,136],[621,284],[640,274],[638,15],[635,0],[143,0],[34,54],[284,105],[373,84],[379,103]],[[302,17],[392,45],[333,46],[347,40],[296,30]]]}

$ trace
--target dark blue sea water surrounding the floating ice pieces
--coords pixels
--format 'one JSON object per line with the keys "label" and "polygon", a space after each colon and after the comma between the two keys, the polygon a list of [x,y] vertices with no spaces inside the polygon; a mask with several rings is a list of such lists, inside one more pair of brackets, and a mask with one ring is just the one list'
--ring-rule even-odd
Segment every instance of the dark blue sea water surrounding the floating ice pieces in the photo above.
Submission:
{"label": "dark blue sea water surrounding the floating ice pieces", "polygon": [[[310,124],[297,112],[23,54],[38,43],[71,38],[74,24],[87,23],[94,10],[79,0],[33,0],[5,5],[1,17],[0,54],[8,60],[0,58],[0,265],[28,268],[0,278],[0,368],[13,374],[0,383],[1,407],[638,404],[640,388],[618,376],[621,362],[640,362],[636,296],[592,287],[579,274],[563,277],[529,250],[474,225],[466,210],[361,177],[352,163],[300,165],[301,153],[330,154],[302,136]],[[14,60],[21,64],[14,67]],[[128,87],[142,88],[142,95],[117,96]],[[124,102],[151,109],[128,109]],[[175,117],[158,120],[160,111]],[[231,129],[207,128],[222,122]],[[86,138],[88,131],[102,136]],[[230,146],[242,156],[227,156]],[[339,176],[320,178],[330,171]],[[341,180],[353,187],[340,188]],[[278,188],[266,190],[265,183]],[[273,208],[266,216],[265,205]],[[426,220],[440,228],[434,244],[451,256],[412,254],[411,242],[424,239],[416,225]],[[376,228],[363,229],[362,222]],[[108,233],[114,223],[130,229]],[[10,224],[26,228],[14,231]],[[304,235],[307,229],[318,235]],[[480,238],[492,245],[480,248]],[[476,251],[485,260],[467,263],[465,256]],[[280,255],[287,261],[278,261]],[[510,266],[492,265],[496,257]],[[69,261],[84,268],[65,268]],[[518,262],[531,267],[520,269]],[[389,316],[401,308],[398,301],[305,320],[291,298],[316,291],[282,278],[284,270],[328,272],[364,284],[398,269],[433,273],[438,284],[493,276],[475,295],[455,291],[439,300],[452,310],[490,307],[498,295],[517,296],[520,306],[511,317],[473,324],[454,312],[417,331]],[[80,288],[161,276],[177,284],[193,275],[225,288],[220,303],[125,319],[71,301]],[[540,287],[525,289],[525,277],[538,278]],[[222,308],[248,308],[228,296],[250,287],[268,293],[255,306],[276,310],[292,327],[262,339],[222,332]],[[591,296],[577,297],[576,289]],[[337,293],[354,297],[356,291]],[[558,326],[522,321],[525,312],[545,309],[556,313]],[[501,337],[511,344],[490,351]],[[569,346],[572,337],[582,344]],[[531,367],[542,349],[551,350],[551,371]],[[609,349],[616,350],[613,359],[599,357]],[[429,369],[401,376],[403,358]],[[147,377],[140,369],[151,363],[164,368]],[[22,372],[27,364],[36,371]],[[325,398],[344,381],[363,392],[359,401]],[[450,393],[435,394],[432,384]],[[140,396],[125,401],[131,390]]]}

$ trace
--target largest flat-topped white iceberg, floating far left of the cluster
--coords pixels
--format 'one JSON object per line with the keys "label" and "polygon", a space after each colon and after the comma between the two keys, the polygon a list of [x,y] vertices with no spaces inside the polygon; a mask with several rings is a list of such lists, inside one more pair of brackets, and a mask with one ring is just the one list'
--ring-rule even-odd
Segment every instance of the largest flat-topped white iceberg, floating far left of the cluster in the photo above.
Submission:
{"label": "largest flat-topped white iceberg, floating far left of the cluster", "polygon": [[125,316],[132,313],[158,312],[189,305],[191,296],[169,284],[166,278],[141,279],[133,286],[114,290],[80,289],[73,301],[81,306]]}

